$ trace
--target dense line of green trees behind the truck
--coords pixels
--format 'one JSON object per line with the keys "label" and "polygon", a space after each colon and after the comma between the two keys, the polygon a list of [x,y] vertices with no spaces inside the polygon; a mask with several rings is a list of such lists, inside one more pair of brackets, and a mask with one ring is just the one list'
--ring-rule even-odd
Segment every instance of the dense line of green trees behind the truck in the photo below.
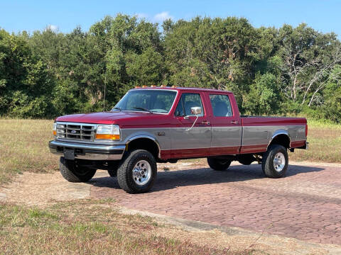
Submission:
{"label": "dense line of green trees behind the truck", "polygon": [[[246,18],[151,23],[106,16],[90,30],[0,30],[0,115],[106,111],[134,86],[233,91],[242,113],[341,122],[341,45],[305,23],[254,28]],[[105,101],[104,104],[104,95]]]}

